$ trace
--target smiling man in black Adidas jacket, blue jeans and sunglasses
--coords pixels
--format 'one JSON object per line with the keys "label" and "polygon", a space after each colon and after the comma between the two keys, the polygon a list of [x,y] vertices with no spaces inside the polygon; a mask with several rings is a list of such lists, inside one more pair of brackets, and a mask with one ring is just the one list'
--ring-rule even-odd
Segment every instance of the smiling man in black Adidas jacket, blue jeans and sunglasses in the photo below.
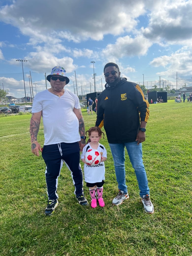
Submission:
{"label": "smiling man in black Adidas jacket, blue jeans and sunglasses", "polygon": [[148,214],[153,214],[154,207],[150,200],[150,189],[142,160],[142,143],[145,141],[149,103],[138,84],[128,82],[120,75],[117,64],[110,62],[105,65],[105,90],[98,96],[95,123],[95,126],[100,128],[104,125],[114,160],[119,193],[112,200],[112,204],[117,206],[129,199],[125,181],[126,147],[135,170],[144,210]]}

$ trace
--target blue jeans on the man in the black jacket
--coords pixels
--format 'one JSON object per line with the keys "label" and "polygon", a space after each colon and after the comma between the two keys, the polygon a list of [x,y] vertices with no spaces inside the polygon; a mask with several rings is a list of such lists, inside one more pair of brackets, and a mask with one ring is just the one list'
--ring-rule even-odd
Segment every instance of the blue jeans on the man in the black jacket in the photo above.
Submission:
{"label": "blue jeans on the man in the black jacket", "polygon": [[142,159],[142,144],[137,145],[137,141],[127,143],[109,143],[113,156],[116,180],[118,188],[127,193],[125,184],[125,147],[129,155],[131,164],[135,170],[137,182],[140,189],[140,196],[149,195],[149,187],[145,167]]}

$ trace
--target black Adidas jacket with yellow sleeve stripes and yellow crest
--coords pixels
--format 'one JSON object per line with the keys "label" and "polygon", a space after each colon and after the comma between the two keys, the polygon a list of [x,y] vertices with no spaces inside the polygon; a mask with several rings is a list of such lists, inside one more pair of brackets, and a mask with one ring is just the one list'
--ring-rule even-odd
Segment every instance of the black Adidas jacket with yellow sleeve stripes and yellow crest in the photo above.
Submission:
{"label": "black Adidas jacket with yellow sleeve stripes and yellow crest", "polygon": [[141,87],[121,78],[115,86],[105,84],[97,102],[95,126],[104,125],[109,143],[125,143],[136,140],[141,121],[149,118],[149,103]]}

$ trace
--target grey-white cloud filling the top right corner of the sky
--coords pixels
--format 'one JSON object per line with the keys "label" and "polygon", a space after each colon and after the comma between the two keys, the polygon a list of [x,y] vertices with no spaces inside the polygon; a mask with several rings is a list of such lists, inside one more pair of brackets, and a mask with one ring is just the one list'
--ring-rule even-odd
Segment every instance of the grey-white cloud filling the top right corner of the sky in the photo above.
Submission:
{"label": "grey-white cloud filling the top right corner of the sky", "polygon": [[142,29],[145,37],[177,44],[192,37],[192,1],[154,1],[148,8],[149,25]]}

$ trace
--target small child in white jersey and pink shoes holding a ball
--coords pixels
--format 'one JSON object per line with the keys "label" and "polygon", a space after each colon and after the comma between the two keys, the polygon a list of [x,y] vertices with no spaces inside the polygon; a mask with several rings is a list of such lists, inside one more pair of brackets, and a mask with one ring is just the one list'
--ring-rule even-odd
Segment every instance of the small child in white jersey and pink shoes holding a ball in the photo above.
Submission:
{"label": "small child in white jersey and pink shoes holding a ball", "polygon": [[[97,199],[96,199],[96,189],[97,189],[97,198],[99,205],[101,207],[105,206],[103,201],[103,184],[105,179],[105,165],[104,161],[107,159],[107,152],[105,147],[99,143],[99,140],[102,137],[102,131],[99,127],[91,127],[89,131],[86,131],[86,135],[88,132],[88,136],[90,142],[83,148],[81,154],[81,160],[84,163],[84,178],[86,181],[86,186],[89,187],[89,193],[91,196],[91,207],[97,207]],[[104,138],[104,133],[103,133]],[[85,162],[85,153],[88,149],[96,149],[101,154],[101,161],[99,164],[93,166],[89,165]]]}

